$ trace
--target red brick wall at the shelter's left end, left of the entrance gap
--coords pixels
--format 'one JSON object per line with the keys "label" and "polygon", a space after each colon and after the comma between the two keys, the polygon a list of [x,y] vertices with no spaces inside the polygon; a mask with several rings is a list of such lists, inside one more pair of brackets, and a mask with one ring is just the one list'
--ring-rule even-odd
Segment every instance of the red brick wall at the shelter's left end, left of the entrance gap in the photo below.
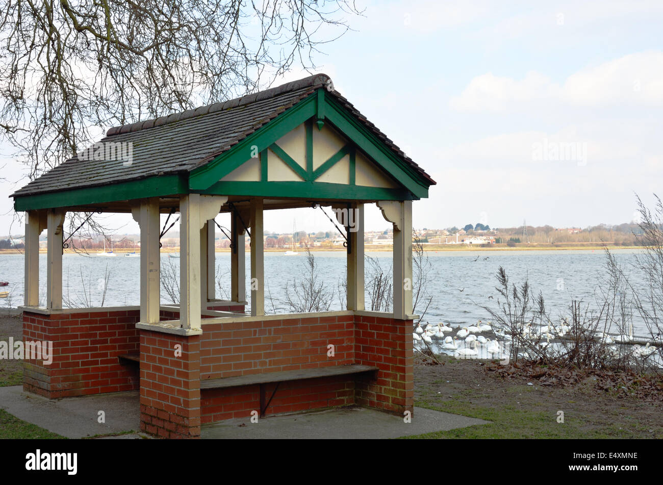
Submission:
{"label": "red brick wall at the shelter's left end, left of the entrance gap", "polygon": [[23,312],[24,341],[52,341],[50,365],[26,360],[23,389],[50,399],[136,390],[138,368],[117,356],[139,349],[139,310]]}

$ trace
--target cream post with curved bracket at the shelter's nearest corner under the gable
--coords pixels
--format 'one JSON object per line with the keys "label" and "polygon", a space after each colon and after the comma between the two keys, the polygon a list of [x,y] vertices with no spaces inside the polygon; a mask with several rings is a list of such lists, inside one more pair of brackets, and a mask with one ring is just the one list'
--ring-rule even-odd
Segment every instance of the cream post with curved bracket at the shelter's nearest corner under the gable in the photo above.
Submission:
{"label": "cream post with curved bracket at the shelter's nearest corner under the gable", "polygon": [[228,197],[190,193],[180,196],[180,324],[200,329],[202,311],[201,229],[216,217]]}

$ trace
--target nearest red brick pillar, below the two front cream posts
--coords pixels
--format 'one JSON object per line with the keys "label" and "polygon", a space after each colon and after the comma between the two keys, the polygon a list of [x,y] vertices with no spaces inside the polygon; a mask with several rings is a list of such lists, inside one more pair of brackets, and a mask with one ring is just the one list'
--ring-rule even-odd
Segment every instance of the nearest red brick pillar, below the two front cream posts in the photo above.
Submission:
{"label": "nearest red brick pillar, below the two front cream posts", "polygon": [[200,335],[141,329],[141,431],[200,438]]}

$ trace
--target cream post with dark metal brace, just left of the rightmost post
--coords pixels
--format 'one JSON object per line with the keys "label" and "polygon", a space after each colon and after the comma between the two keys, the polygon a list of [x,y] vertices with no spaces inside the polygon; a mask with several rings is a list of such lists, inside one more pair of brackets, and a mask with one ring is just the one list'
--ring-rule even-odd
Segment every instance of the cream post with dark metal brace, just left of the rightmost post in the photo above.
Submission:
{"label": "cream post with dark metal brace, just left of the rightmost post", "polygon": [[347,309],[360,311],[364,309],[364,205],[353,204],[354,215],[348,214],[348,240],[350,252],[347,254]]}

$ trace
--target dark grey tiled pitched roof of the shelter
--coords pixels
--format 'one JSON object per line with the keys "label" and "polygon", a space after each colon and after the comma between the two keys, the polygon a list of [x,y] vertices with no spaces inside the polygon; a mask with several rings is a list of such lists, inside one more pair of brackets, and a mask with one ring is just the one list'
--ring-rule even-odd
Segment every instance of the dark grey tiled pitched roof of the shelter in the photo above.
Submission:
{"label": "dark grey tiled pitched roof of the shelter", "polygon": [[[133,163],[79,160],[78,155],[19,189],[13,196],[89,188],[190,172],[269,123],[331,80],[317,74],[224,103],[215,103],[107,131],[104,142],[131,142]],[[434,180],[337,91],[330,91],[361,123],[430,184]]]}

